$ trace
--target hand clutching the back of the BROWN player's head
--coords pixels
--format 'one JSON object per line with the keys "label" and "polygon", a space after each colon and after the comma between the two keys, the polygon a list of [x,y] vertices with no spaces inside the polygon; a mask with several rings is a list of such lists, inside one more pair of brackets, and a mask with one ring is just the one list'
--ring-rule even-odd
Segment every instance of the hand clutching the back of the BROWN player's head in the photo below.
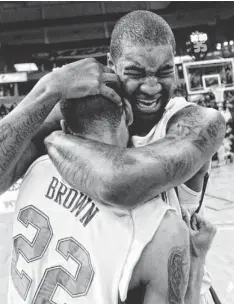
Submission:
{"label": "hand clutching the back of the BROWN player's head", "polygon": [[47,74],[48,87],[59,100],[101,94],[117,105],[121,98],[113,89],[120,86],[119,77],[94,58],[82,59]]}

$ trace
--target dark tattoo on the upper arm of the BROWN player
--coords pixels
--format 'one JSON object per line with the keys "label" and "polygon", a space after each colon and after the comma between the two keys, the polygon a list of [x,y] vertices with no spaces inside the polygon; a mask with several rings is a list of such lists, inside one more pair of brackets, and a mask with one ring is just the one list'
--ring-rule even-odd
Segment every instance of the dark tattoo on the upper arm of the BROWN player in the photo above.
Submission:
{"label": "dark tattoo on the upper arm of the BROWN player", "polygon": [[172,249],[168,259],[168,303],[182,304],[189,275],[188,248]]}

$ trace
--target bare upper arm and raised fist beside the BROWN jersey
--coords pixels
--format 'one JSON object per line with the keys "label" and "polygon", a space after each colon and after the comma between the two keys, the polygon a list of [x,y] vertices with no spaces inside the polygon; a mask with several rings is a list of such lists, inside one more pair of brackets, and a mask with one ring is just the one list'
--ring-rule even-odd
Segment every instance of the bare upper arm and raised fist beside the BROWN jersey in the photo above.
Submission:
{"label": "bare upper arm and raised fist beside the BROWN jersey", "polygon": [[205,259],[216,228],[197,214],[191,221],[185,210],[182,214],[188,229],[174,212],[163,218],[134,268],[126,304],[200,302]]}

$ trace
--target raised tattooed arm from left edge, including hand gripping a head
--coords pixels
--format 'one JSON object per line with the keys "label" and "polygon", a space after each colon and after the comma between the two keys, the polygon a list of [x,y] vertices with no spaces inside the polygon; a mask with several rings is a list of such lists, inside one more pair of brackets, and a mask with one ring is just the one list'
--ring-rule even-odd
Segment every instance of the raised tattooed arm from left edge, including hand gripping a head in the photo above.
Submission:
{"label": "raised tattooed arm from left edge, including hand gripping a head", "polygon": [[56,120],[48,115],[59,100],[102,94],[113,102],[121,102],[117,93],[106,86],[105,79],[118,82],[118,76],[110,71],[93,58],[67,64],[41,78],[0,121],[0,193],[44,152],[41,149],[44,138],[58,129]]}

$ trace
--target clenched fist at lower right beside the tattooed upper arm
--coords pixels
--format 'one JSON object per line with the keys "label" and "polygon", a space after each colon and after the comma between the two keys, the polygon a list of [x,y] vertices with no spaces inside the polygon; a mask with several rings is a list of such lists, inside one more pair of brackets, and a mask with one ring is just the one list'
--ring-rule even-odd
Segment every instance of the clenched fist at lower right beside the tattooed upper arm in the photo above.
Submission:
{"label": "clenched fist at lower right beside the tattooed upper arm", "polygon": [[190,218],[188,211],[182,209],[182,216],[189,228],[191,258],[205,259],[217,229],[199,214],[194,213]]}

